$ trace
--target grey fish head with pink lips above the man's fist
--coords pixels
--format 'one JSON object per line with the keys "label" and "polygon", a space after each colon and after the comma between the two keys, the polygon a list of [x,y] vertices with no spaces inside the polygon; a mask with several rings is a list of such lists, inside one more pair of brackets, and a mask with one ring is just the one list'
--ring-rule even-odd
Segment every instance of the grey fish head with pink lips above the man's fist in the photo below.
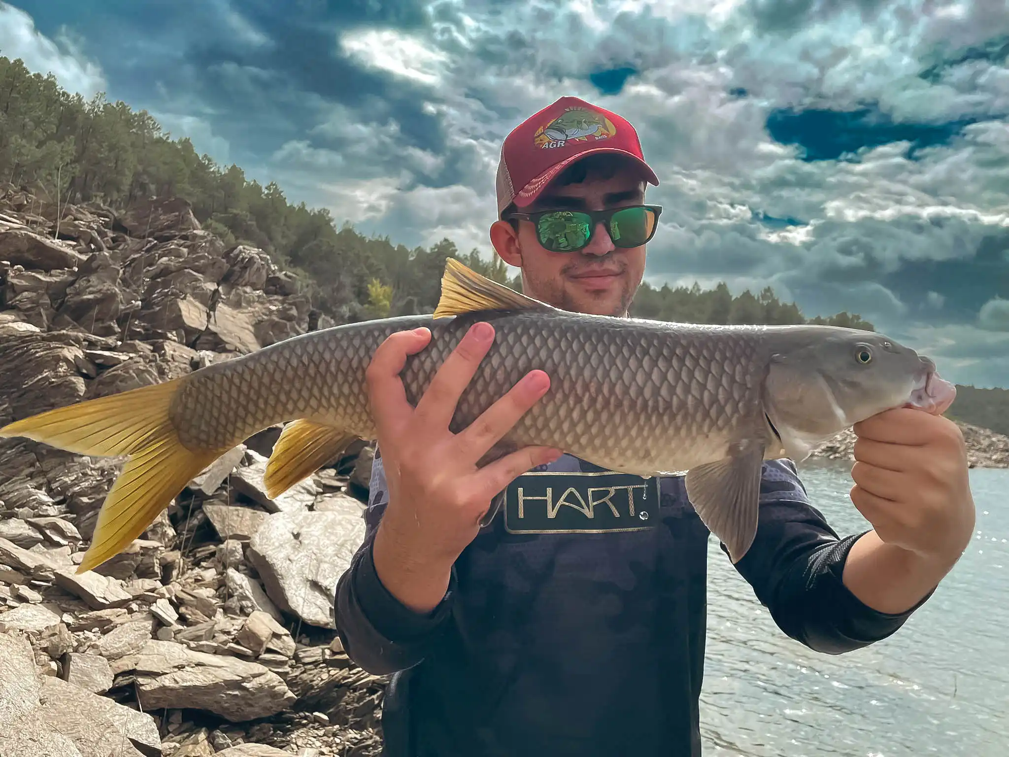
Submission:
{"label": "grey fish head with pink lips above the man's fist", "polygon": [[771,339],[765,412],[793,458],[878,413],[910,407],[939,415],[957,397],[931,358],[884,334],[802,326]]}

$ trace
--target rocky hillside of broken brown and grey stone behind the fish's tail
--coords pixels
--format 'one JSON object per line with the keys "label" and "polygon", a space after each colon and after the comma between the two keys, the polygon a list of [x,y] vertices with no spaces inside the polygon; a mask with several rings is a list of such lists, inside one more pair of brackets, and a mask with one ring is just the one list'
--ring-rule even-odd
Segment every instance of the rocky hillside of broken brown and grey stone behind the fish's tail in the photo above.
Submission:
{"label": "rocky hillside of broken brown and grey stone behind the fish's tail", "polygon": [[[57,209],[0,185],[0,425],[327,325],[182,201]],[[77,575],[120,461],[0,440],[0,755],[372,755],[384,680],[333,630],[369,449],[276,500],[278,434]],[[254,746],[259,745],[259,746]]]}

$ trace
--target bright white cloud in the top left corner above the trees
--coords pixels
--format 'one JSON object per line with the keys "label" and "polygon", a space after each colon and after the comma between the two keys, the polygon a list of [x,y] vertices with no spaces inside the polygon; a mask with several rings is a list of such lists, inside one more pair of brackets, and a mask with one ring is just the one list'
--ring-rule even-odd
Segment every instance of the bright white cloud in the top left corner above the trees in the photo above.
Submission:
{"label": "bright white cloud in the top left corner above the trees", "polygon": [[20,58],[34,73],[51,73],[64,89],[86,98],[106,89],[101,67],[84,58],[69,33],[53,41],[35,28],[31,16],[4,2],[0,2],[0,55]]}

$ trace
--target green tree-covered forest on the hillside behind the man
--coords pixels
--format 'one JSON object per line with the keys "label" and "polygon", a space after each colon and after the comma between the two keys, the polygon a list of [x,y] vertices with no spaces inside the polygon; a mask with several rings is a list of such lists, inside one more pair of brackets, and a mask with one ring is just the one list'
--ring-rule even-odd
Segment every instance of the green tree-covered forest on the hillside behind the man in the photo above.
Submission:
{"label": "green tree-covered forest on the hillside behind the man", "polygon": [[[2,51],[2,50],[0,50]],[[0,182],[63,203],[97,201],[115,209],[152,196],[182,197],[204,228],[227,243],[268,252],[299,276],[314,307],[337,322],[433,311],[445,258],[455,256],[520,289],[518,275],[493,256],[461,253],[450,239],[408,248],[338,224],[325,208],[291,204],[275,184],[246,178],[238,166],[198,154],[189,138],[172,138],[146,111],[103,94],[71,94],[50,74],[0,57]],[[643,284],[632,315],[694,323],[828,323],[872,330],[847,312],[806,318],[767,288],[733,296],[722,283],[653,288]]]}

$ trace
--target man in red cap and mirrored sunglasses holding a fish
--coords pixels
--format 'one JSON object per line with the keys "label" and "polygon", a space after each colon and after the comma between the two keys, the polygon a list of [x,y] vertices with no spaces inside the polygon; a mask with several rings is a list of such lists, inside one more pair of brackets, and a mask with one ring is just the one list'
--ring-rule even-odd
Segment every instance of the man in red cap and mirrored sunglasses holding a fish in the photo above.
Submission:
{"label": "man in red cap and mirrored sunglasses holding a fish", "polygon": [[[646,183],[658,180],[631,124],[562,98],[504,141],[494,249],[521,267],[532,297],[627,315],[656,220],[656,211],[642,207]],[[627,210],[609,215],[618,209]],[[596,215],[579,224],[585,219],[544,211]],[[378,455],[367,533],[336,591],[348,654],[367,670],[395,673],[384,701],[385,754],[700,754],[709,534],[682,477],[607,473],[540,448],[478,469],[479,450],[533,407],[550,376],[532,371],[452,434],[455,402],[493,329],[472,327],[415,409],[399,372],[429,337],[425,329],[390,336],[369,367]],[[838,539],[810,506],[792,463],[770,461],[756,540],[736,565],[785,633],[831,654],[899,629],[974,528],[955,424],[895,410],[857,431],[851,496],[874,530]],[[520,495],[521,518],[535,521],[555,496],[548,488],[573,490],[571,504],[590,499],[593,482],[596,492],[605,485],[628,498],[657,489],[657,517],[645,528],[614,519],[594,533],[585,533],[587,519],[576,524],[583,528],[571,526],[578,516],[567,511],[572,533],[517,525],[526,522],[516,515]],[[504,507],[481,528],[506,485]]]}

